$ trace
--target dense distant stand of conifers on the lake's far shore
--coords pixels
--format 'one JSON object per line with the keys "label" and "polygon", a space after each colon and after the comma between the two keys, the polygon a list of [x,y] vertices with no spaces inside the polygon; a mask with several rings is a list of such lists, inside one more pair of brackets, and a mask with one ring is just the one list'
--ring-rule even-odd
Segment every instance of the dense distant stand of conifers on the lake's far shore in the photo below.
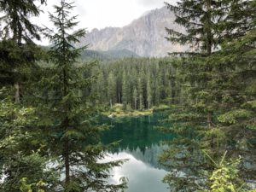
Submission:
{"label": "dense distant stand of conifers on the lake's far shore", "polygon": [[160,104],[172,104],[182,98],[175,79],[178,60],[163,58],[126,58],[101,62],[92,93],[101,104],[143,110]]}

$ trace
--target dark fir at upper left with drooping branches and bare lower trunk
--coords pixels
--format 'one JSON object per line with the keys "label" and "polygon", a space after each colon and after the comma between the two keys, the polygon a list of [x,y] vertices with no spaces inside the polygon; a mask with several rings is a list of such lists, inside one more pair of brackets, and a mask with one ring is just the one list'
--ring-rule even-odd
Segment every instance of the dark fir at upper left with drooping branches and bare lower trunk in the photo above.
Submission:
{"label": "dark fir at upper left with drooping branches and bare lower trunk", "polygon": [[[40,3],[44,4],[45,0],[40,0]],[[15,101],[20,102],[21,69],[34,63],[38,48],[32,40],[40,39],[40,28],[29,19],[32,16],[37,17],[40,9],[35,0],[2,0],[0,13],[3,14],[0,18],[3,24],[3,31],[0,33],[3,39],[0,55],[4,58],[0,65],[0,71],[3,73],[1,76],[3,81],[9,78],[10,82],[15,84]]]}

